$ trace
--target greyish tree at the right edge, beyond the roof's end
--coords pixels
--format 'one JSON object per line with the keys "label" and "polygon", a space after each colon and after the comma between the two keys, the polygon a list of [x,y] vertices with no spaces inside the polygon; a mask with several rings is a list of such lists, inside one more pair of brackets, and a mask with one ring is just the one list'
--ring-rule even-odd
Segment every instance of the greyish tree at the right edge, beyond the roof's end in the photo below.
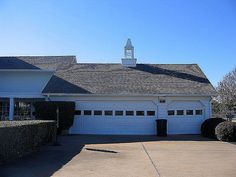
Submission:
{"label": "greyish tree at the right edge, beyond the roof's end", "polygon": [[221,111],[226,114],[236,112],[236,67],[224,76],[217,86],[217,100],[221,104]]}

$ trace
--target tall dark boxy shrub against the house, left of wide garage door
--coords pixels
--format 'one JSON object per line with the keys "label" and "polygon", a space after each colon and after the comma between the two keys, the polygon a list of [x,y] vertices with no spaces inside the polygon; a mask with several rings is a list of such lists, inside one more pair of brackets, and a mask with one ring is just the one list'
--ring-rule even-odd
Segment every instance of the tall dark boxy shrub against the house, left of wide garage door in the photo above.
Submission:
{"label": "tall dark boxy shrub against the house, left of wide garage door", "polygon": [[41,101],[34,104],[35,117],[40,120],[57,120],[57,108],[59,109],[60,134],[63,130],[68,130],[74,122],[75,103],[65,101]]}

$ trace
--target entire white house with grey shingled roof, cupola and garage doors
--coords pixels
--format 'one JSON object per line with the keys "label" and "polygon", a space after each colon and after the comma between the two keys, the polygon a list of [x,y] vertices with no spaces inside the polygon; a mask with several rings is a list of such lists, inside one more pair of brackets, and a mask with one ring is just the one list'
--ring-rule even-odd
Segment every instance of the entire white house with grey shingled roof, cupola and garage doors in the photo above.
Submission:
{"label": "entire white house with grey shingled roof, cupola and garage doors", "polygon": [[74,101],[72,134],[198,134],[215,90],[197,64],[138,64],[128,39],[117,64],[75,56],[0,57],[0,118],[32,118],[33,102]]}

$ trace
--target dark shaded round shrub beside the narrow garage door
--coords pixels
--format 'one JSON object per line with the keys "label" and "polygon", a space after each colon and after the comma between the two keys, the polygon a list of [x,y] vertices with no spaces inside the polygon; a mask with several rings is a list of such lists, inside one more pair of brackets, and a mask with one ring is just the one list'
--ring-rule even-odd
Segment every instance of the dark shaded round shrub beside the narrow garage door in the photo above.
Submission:
{"label": "dark shaded round shrub beside the narrow garage door", "polygon": [[210,118],[210,119],[205,120],[201,126],[202,136],[208,137],[208,138],[216,138],[215,128],[219,123],[224,122],[224,121],[225,120],[222,118]]}

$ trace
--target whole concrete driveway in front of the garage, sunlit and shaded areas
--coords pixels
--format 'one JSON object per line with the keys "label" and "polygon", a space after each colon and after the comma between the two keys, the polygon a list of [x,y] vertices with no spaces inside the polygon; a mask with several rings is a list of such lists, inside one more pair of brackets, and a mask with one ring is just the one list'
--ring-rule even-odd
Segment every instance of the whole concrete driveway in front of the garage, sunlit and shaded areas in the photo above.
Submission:
{"label": "whole concrete driveway in front of the garage, sunlit and shaded areas", "polygon": [[235,177],[236,145],[197,135],[64,136],[0,177]]}

